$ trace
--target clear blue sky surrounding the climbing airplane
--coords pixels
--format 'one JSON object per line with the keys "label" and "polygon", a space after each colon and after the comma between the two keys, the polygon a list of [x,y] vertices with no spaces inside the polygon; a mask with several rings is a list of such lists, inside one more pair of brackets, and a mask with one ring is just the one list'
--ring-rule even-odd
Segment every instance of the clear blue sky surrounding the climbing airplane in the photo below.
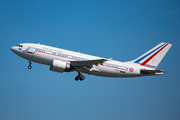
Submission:
{"label": "clear blue sky surrounding the climbing airplane", "polygon": [[[1,120],[180,120],[179,0],[1,0]],[[119,61],[172,43],[162,76],[55,73],[10,51],[41,43]]]}

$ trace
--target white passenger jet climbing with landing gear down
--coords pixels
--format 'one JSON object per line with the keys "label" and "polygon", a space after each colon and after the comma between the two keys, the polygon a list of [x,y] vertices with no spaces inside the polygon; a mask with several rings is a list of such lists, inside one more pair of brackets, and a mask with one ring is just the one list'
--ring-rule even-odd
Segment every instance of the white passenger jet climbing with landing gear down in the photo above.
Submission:
{"label": "white passenger jet climbing with landing gear down", "polygon": [[16,55],[27,59],[28,69],[32,62],[50,66],[51,71],[71,72],[77,71],[75,80],[83,81],[82,73],[103,77],[141,77],[162,75],[164,70],[156,70],[172,44],[161,42],[137,59],[128,62],[120,62],[102,57],[73,52],[42,44],[22,43],[11,47]]}

